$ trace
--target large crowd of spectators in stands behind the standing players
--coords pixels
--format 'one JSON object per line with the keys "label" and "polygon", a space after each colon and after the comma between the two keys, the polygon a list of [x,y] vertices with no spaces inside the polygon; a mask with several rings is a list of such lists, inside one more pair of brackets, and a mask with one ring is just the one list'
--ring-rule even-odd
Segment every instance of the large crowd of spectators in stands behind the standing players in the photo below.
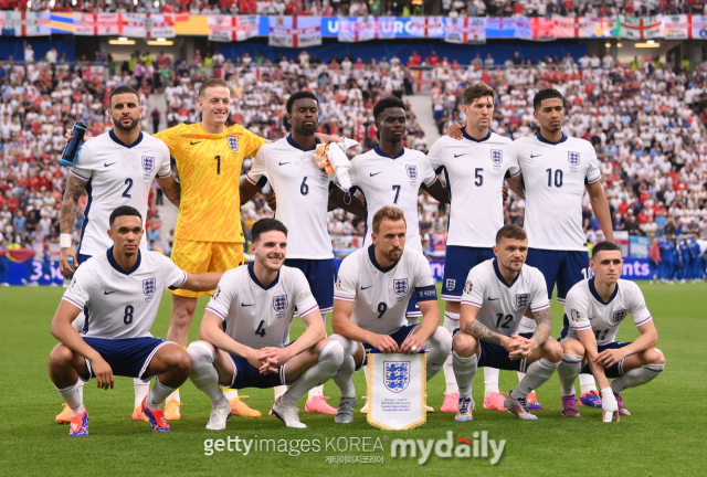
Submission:
{"label": "large crowd of spectators in stands behind the standing players", "polygon": [[[432,114],[440,132],[453,121],[465,120],[461,93],[466,85],[483,81],[497,92],[494,131],[513,138],[537,134],[531,98],[539,88],[553,85],[567,98],[567,134],[590,140],[597,149],[614,229],[633,235],[707,239],[706,66],[689,72],[685,65],[672,67],[650,57],[620,65],[610,56],[567,56],[531,64],[518,56],[508,59],[503,68],[481,59],[468,66],[450,64],[436,55],[411,57],[408,64],[432,66]],[[373,104],[381,97],[411,94],[413,86],[411,68],[397,57],[369,63],[348,56],[325,63],[306,52],[274,63],[247,54],[233,62],[218,52],[205,57],[197,51],[190,63],[172,64],[165,55],[134,55],[119,68],[116,65],[107,81],[87,74],[80,64],[0,62],[0,248],[34,248],[38,257],[59,250],[59,208],[65,182],[65,170],[57,162],[64,142],[61,132],[76,119],[86,120],[92,135],[110,128],[107,97],[119,85],[137,87],[144,104],[151,94],[165,93],[167,110],[152,106],[145,112],[143,129],[152,132],[162,117],[168,126],[198,121],[199,85],[220,67],[238,98],[232,102],[231,120],[268,139],[287,135],[291,125],[284,102],[295,91],[308,88],[320,99],[320,130],[361,144],[351,155],[377,144]],[[409,119],[405,145],[426,151],[431,142],[412,110]],[[245,161],[243,173],[250,165]],[[173,231],[161,231],[156,205],[162,202],[156,184],[148,240],[154,248],[169,254]],[[505,206],[506,222],[521,224],[524,206],[524,200],[511,194]],[[78,206],[76,242],[84,208],[85,198]],[[271,214],[265,195],[257,194],[243,206],[245,230]],[[447,208],[423,193],[419,214],[431,254],[443,252]],[[363,225],[361,218],[331,212],[335,247],[359,246]],[[589,237],[601,235],[588,201],[584,227]]]}

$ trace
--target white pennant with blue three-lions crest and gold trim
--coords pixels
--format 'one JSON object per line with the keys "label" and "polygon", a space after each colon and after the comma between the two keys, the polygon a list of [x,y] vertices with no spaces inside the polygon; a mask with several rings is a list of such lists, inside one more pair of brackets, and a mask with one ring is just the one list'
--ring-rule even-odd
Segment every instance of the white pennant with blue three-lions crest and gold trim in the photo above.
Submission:
{"label": "white pennant with blue three-lions crest and gold trim", "polygon": [[428,421],[426,363],[416,354],[368,353],[368,423],[390,431],[411,430]]}

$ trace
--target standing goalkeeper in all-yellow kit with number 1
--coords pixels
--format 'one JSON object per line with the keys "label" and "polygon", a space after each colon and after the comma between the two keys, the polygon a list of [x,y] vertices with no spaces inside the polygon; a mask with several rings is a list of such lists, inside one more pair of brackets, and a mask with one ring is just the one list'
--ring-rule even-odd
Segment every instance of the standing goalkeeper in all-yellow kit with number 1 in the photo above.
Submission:
{"label": "standing goalkeeper in all-yellow kit with number 1", "polygon": [[[207,80],[199,87],[200,124],[179,125],[155,135],[177,161],[181,205],[177,218],[172,261],[189,272],[235,268],[243,263],[243,231],[239,181],[243,159],[266,142],[240,125],[225,126],[231,107],[229,84]],[[320,136],[323,140],[331,139]],[[187,346],[197,298],[205,293],[176,290],[167,338]],[[234,414],[260,416],[226,390]],[[167,418],[179,418],[179,392],[166,405]]]}

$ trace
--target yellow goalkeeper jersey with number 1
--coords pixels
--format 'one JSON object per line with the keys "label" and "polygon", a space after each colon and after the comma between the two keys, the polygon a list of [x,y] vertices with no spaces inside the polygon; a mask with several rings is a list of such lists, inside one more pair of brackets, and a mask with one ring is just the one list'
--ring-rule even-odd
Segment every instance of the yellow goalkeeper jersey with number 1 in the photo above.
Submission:
{"label": "yellow goalkeeper jersey with number 1", "polygon": [[210,134],[200,124],[155,135],[177,160],[181,202],[176,240],[243,243],[240,178],[243,159],[265,139],[240,125]]}

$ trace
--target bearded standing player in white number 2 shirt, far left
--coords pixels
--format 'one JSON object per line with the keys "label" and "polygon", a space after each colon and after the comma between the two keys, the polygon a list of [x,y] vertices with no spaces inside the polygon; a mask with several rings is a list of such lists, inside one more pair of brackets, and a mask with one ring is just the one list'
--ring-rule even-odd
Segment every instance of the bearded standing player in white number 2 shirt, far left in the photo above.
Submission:
{"label": "bearded standing player in white number 2 shirt, far left", "polygon": [[[115,127],[83,145],[68,174],[61,210],[60,268],[65,277],[73,273],[68,267],[68,257],[73,258],[74,266],[82,265],[92,256],[103,255],[113,245],[106,231],[109,229],[108,216],[116,205],[130,205],[143,218],[147,218],[147,200],[156,178],[167,198],[179,206],[180,187],[171,173],[169,150],[162,141],[140,130],[143,107],[137,92],[129,86],[119,86],[110,93],[108,105]],[[84,191],[88,202],[78,250],[74,252],[71,246],[72,231],[76,221],[76,204]],[[140,250],[147,252],[145,236]],[[84,317],[78,317],[74,327],[82,330],[85,321]],[[134,381],[133,418],[147,421],[140,403],[149,391],[149,382],[137,378]],[[83,390],[83,382],[80,388]],[[68,424],[70,421],[71,412],[65,406],[56,416],[56,422]]]}

